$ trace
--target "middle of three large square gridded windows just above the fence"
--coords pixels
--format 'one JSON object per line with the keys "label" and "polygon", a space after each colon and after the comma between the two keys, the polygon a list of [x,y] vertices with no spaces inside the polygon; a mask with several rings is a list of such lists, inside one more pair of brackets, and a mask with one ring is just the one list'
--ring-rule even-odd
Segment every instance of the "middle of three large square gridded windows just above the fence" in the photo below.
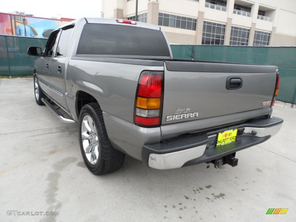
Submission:
{"label": "middle of three large square gridded windows just above the fence", "polygon": [[247,46],[250,29],[231,26],[230,42],[232,46]]}

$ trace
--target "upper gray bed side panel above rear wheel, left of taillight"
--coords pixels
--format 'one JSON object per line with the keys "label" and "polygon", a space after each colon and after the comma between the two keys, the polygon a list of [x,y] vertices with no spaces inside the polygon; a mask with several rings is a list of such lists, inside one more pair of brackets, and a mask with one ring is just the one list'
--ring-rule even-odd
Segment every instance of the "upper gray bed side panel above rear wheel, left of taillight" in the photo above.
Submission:
{"label": "upper gray bed side panel above rear wheel, left of taillight", "polygon": [[[133,122],[136,89],[141,72],[143,70],[163,71],[163,66],[85,59],[88,60],[71,59],[69,61],[66,82],[71,96],[76,97],[78,91],[85,91],[95,97],[103,112]],[[163,65],[163,62],[158,64]],[[67,101],[68,107],[71,107],[71,113],[75,113],[73,102],[73,99]]]}

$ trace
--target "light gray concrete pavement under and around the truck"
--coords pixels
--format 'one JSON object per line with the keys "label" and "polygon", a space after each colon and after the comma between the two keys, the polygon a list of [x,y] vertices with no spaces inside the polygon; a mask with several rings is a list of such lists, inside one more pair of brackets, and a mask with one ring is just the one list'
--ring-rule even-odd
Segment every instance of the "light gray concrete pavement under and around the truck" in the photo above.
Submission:
{"label": "light gray concrete pavement under and around the truck", "polygon": [[273,113],[281,131],[238,152],[237,167],[155,170],[126,156],[120,170],[94,176],[77,125],[36,104],[33,79],[0,79],[0,102],[0,221],[295,221],[296,110],[284,103]]}

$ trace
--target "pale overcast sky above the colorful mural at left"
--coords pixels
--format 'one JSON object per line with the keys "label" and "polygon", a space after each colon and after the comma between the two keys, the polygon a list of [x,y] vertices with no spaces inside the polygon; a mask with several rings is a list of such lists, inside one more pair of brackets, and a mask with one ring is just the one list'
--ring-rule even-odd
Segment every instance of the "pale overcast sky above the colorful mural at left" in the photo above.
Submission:
{"label": "pale overcast sky above the colorful mural at left", "polygon": [[13,11],[44,18],[101,17],[101,0],[0,0],[0,12],[10,13]]}

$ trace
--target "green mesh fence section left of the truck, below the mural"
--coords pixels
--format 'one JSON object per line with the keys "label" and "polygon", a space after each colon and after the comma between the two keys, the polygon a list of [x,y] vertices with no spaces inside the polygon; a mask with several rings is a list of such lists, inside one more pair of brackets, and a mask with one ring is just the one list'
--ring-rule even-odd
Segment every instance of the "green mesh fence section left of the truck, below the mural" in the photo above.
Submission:
{"label": "green mesh fence section left of the truck, below the mural", "polygon": [[47,39],[0,35],[0,75],[33,75],[34,60],[29,46],[44,49]]}

